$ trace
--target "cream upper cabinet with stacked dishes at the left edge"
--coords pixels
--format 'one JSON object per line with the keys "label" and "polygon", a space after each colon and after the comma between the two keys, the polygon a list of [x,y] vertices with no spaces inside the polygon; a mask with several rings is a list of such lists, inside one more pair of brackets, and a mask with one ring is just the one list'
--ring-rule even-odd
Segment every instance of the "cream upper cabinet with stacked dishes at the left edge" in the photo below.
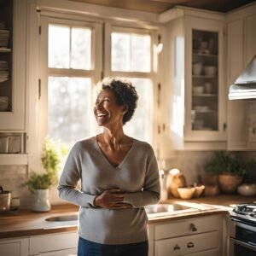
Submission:
{"label": "cream upper cabinet with stacked dishes at the left edge", "polygon": [[[2,62],[0,71],[7,73],[7,79],[0,79],[0,105],[3,107],[0,111],[0,130],[24,131],[26,1],[2,1],[1,4],[1,21],[4,28],[1,31],[9,31],[9,41],[0,48],[1,61],[6,61],[5,64]],[[4,108],[3,101],[8,102],[7,108]]]}

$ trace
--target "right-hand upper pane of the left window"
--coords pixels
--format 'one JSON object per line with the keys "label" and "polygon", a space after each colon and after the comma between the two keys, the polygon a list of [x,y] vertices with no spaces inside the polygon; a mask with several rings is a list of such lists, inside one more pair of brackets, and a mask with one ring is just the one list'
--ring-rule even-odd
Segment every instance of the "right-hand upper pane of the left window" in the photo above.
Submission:
{"label": "right-hand upper pane of the left window", "polygon": [[71,67],[90,69],[91,31],[87,28],[72,28]]}

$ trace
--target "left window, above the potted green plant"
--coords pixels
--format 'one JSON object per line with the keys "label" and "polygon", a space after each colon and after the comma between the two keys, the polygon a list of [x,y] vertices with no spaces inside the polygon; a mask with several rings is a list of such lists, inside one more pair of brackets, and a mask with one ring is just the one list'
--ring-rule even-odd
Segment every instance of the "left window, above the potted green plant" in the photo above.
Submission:
{"label": "left window, above the potted green plant", "polygon": [[[93,84],[100,79],[94,24],[42,17],[44,136],[73,145],[93,135]],[[98,44],[99,47],[100,44]],[[45,57],[46,56],[46,57]],[[97,68],[96,68],[96,64]],[[47,119],[47,120],[45,120]]]}

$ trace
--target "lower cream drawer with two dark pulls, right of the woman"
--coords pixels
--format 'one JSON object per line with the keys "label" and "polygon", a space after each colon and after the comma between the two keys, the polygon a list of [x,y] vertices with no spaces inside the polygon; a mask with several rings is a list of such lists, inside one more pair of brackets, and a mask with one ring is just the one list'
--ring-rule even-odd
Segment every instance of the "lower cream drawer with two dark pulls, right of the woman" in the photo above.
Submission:
{"label": "lower cream drawer with two dark pulls, right of the woman", "polygon": [[[192,235],[192,236],[183,236],[183,237],[177,237],[177,238],[171,238],[171,239],[164,239],[161,241],[155,241],[154,255],[155,256],[170,256],[170,255],[177,256],[177,255],[183,255],[187,253],[195,253],[195,255],[200,255],[200,254],[197,254],[196,252],[218,249],[218,244],[219,244],[218,231]],[[205,254],[202,254],[202,255],[205,255]],[[218,256],[218,254],[216,256]]]}

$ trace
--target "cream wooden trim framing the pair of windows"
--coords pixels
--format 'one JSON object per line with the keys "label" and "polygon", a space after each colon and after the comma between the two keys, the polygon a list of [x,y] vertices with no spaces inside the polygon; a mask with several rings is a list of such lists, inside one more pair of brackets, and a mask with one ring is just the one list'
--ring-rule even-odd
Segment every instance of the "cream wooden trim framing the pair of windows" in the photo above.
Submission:
{"label": "cream wooden trim framing the pair of windows", "polygon": [[[43,3],[44,1],[42,1]],[[84,3],[83,3],[84,4]],[[115,76],[115,75],[122,75],[125,77],[135,77],[135,78],[148,78],[148,79],[152,79],[153,83],[154,83],[154,97],[158,95],[158,89],[157,89],[157,73],[156,73],[156,66],[154,66],[154,69],[152,69],[152,72],[149,74],[145,74],[145,73],[130,73],[130,75],[128,73],[108,73],[108,65],[105,62],[104,63],[104,67],[103,67],[103,60],[106,60],[106,49],[105,49],[105,53],[104,56],[102,58],[103,52],[103,34],[102,34],[102,26],[103,23],[106,24],[106,27],[108,26],[114,26],[114,27],[118,27],[118,26],[122,26],[123,28],[127,28],[127,29],[131,29],[133,31],[138,31],[138,32],[151,32],[154,34],[154,36],[152,37],[152,41],[154,41],[154,44],[157,44],[157,33],[158,30],[160,29],[160,27],[157,25],[157,23],[155,23],[154,19],[149,19],[151,21],[143,21],[143,16],[142,16],[142,20],[133,20],[132,19],[132,13],[133,11],[128,11],[125,12],[125,15],[128,15],[127,17],[129,17],[129,19],[116,19],[114,17],[114,15],[84,15],[84,13],[79,12],[79,8],[75,8],[74,10],[72,10],[72,12],[69,12],[69,9],[55,9],[55,7],[53,9],[51,9],[51,7],[49,8],[38,8],[38,6],[42,6],[42,4],[40,3],[28,3],[28,37],[27,37],[27,47],[29,49],[28,51],[28,55],[27,55],[27,74],[28,74],[28,95],[29,95],[29,108],[27,108],[27,123],[28,123],[28,141],[27,141],[27,151],[28,151],[28,167],[29,167],[29,172],[35,171],[35,172],[39,172],[39,170],[42,169],[41,166],[41,160],[40,160],[40,156],[41,156],[41,152],[42,152],[42,148],[44,145],[44,136],[47,134],[47,123],[45,122],[45,114],[47,114],[47,109],[45,108],[45,103],[41,104],[42,97],[44,97],[43,92],[42,91],[42,96],[41,99],[38,99],[38,79],[42,79],[43,76],[41,76],[41,74],[45,73],[44,70],[42,70],[41,67],[44,68],[48,68],[47,65],[42,65],[43,63],[41,63],[40,59],[39,59],[39,52],[40,52],[40,37],[38,35],[38,26],[40,25],[40,16],[48,16],[48,19],[51,20],[73,20],[75,21],[74,24],[77,25],[77,22],[82,22],[83,25],[85,26],[94,26],[95,27],[95,37],[98,38],[96,40],[96,55],[95,55],[95,74],[92,74],[93,71],[83,71],[84,73],[86,73],[86,76],[95,76],[95,81],[92,81],[92,83],[97,83],[99,80],[102,79],[103,76]],[[44,4],[43,4],[44,5]],[[73,5],[74,6],[74,5]],[[84,6],[84,5],[83,5]],[[41,9],[39,12],[36,12],[36,9]],[[104,8],[104,12],[105,12],[105,8]],[[105,12],[106,13],[106,12]],[[127,13],[127,14],[126,14]],[[125,17],[125,15],[123,15],[123,17]],[[137,16],[137,15],[136,15]],[[147,19],[146,19],[147,20]],[[44,29],[42,29],[42,32],[44,32]],[[108,43],[109,44],[109,43]],[[152,45],[154,45],[152,44]],[[106,43],[104,44],[106,45]],[[104,46],[105,47],[105,46]],[[154,50],[154,49],[152,49]],[[158,57],[156,55],[156,52],[154,50],[154,55],[152,55],[154,57],[154,60],[157,61]],[[102,60],[103,59],[103,60]],[[40,60],[40,61],[39,61]],[[110,60],[110,58],[108,58],[108,60]],[[45,62],[45,60],[44,60]],[[47,63],[47,60],[46,62]],[[155,65],[155,63],[154,63]],[[54,71],[52,69],[53,72],[55,72],[56,74],[62,75],[62,71],[58,70],[58,71]],[[76,73],[76,71],[73,73],[74,76],[77,76],[78,73]],[[44,80],[44,79],[43,79]],[[44,86],[44,84],[42,83],[44,81],[41,81],[41,90],[43,88],[46,88]],[[47,105],[47,102],[46,102]],[[31,109],[32,108],[32,109]],[[44,113],[41,113],[40,110],[44,109]],[[154,99],[154,113],[152,116],[153,119],[153,131],[152,131],[152,143],[153,143],[153,147],[156,150],[157,153],[157,137],[158,137],[158,133],[157,133],[157,121],[158,121],[158,117],[157,117],[157,100]],[[47,120],[47,116],[46,116],[46,120]]]}

